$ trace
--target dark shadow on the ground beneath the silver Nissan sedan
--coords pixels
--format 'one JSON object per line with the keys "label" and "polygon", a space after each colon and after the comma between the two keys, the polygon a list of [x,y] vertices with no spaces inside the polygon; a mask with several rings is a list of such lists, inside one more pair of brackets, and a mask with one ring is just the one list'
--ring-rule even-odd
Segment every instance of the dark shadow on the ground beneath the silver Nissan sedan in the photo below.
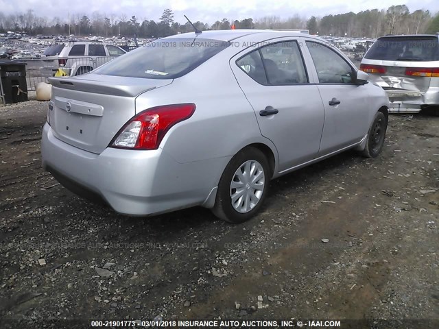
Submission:
{"label": "dark shadow on the ground beneath the silver Nissan sedan", "polygon": [[[276,206],[278,196],[287,193],[306,192],[309,184],[324,179],[325,175],[343,175],[346,166],[351,167],[363,161],[367,161],[367,159],[359,156],[357,152],[346,151],[327,160],[322,160],[309,167],[298,169],[281,178],[272,180],[272,182],[270,182],[268,198],[261,208],[261,212]],[[86,208],[91,217],[96,217],[98,221],[103,219],[106,221],[106,226],[115,226],[115,230],[117,230],[114,234],[115,236],[135,232],[135,236],[139,237],[154,236],[154,240],[172,240],[180,234],[185,234],[185,232],[203,230],[203,228],[211,227],[212,225],[217,226],[219,230],[226,227],[234,227],[233,224],[224,223],[217,219],[209,209],[201,206],[150,217],[121,215],[111,210],[108,206],[93,204],[80,197],[74,197],[74,201],[72,200],[70,206],[73,209]],[[259,221],[250,219],[250,221],[244,223],[244,227],[251,228],[257,223],[259,223]],[[130,234],[132,235],[132,233]],[[213,234],[215,233],[213,232]]]}

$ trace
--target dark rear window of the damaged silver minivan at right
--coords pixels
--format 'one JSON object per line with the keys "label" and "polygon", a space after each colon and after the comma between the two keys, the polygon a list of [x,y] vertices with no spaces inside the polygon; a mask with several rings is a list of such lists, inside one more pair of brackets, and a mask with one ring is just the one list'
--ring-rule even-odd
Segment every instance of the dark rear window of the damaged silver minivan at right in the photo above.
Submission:
{"label": "dark rear window of the damaged silver minivan at right", "polygon": [[370,60],[439,60],[438,37],[385,37],[370,47],[364,58]]}

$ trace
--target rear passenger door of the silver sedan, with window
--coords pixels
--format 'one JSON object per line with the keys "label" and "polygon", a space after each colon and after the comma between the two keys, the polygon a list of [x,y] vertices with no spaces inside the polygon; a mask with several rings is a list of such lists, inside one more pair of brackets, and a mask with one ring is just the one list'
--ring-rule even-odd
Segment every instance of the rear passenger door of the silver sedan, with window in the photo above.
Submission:
{"label": "rear passenger door of the silver sedan, with window", "polygon": [[230,66],[284,172],[316,158],[324,109],[318,87],[309,84],[298,40],[269,43],[241,52]]}

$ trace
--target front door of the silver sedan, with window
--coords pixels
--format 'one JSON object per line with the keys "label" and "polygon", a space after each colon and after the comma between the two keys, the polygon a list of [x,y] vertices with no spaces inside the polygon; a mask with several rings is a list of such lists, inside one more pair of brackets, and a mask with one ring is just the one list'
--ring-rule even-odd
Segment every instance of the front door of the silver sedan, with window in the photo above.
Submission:
{"label": "front door of the silver sedan, with window", "polygon": [[319,155],[361,141],[368,132],[368,91],[355,84],[355,69],[339,53],[322,42],[307,40],[325,119]]}

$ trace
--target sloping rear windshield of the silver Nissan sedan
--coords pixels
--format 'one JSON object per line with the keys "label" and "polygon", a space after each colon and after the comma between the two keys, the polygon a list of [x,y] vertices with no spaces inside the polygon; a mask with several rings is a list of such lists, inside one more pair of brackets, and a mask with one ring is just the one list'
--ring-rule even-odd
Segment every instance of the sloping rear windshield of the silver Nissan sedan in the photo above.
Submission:
{"label": "sloping rear windshield of the silver Nissan sedan", "polygon": [[195,69],[230,45],[211,39],[169,38],[139,47],[93,73],[119,77],[174,79]]}

